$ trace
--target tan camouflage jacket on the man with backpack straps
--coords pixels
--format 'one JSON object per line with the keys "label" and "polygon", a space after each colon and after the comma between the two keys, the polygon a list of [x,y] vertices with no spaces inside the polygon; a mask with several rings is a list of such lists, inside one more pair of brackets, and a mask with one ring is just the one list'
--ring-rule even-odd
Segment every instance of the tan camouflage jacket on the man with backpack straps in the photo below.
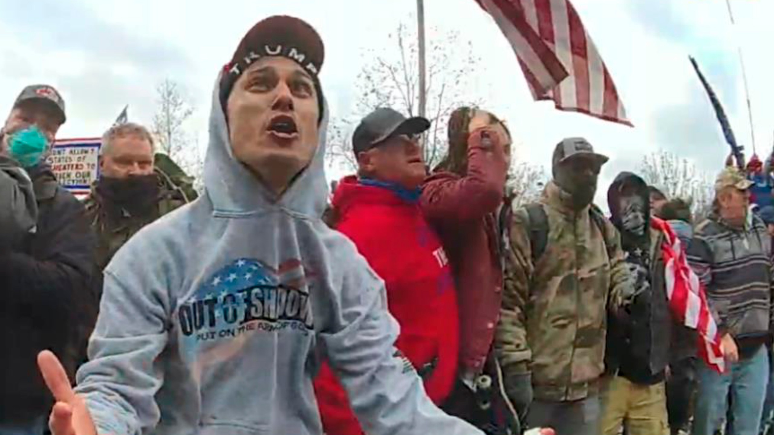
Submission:
{"label": "tan camouflage jacket on the man with backpack straps", "polygon": [[[532,372],[536,399],[570,401],[598,392],[604,372],[608,301],[629,285],[618,231],[590,211],[574,212],[553,183],[543,193],[549,231],[533,264],[529,214],[508,226],[505,292],[495,351],[506,377]],[[608,251],[613,253],[610,258]]]}

